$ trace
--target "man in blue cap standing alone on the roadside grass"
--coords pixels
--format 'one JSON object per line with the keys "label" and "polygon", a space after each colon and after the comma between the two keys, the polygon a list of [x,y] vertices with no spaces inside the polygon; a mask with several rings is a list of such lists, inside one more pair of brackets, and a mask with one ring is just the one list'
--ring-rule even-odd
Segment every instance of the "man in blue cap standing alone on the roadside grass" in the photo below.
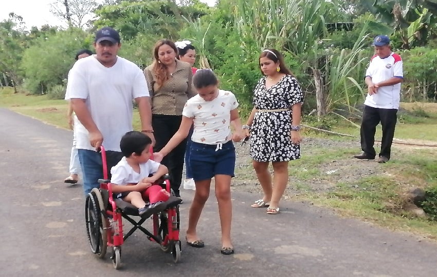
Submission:
{"label": "man in blue cap standing alone on the roadside grass", "polygon": [[367,97],[361,122],[361,150],[356,159],[374,160],[376,156],[375,132],[381,123],[383,138],[378,163],[390,160],[391,145],[396,126],[396,114],[400,101],[400,83],[404,81],[402,58],[391,51],[390,38],[378,35],[372,46],[375,55],[366,71]]}

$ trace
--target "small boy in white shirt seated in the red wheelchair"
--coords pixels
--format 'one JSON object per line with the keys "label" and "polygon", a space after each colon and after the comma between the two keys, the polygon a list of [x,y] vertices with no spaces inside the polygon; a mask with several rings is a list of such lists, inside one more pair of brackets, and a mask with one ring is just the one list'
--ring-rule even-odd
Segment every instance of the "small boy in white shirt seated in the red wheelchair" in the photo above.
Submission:
{"label": "small boy in white shirt seated in the red wheelchair", "polygon": [[[182,201],[155,185],[168,169],[150,160],[151,145],[149,136],[138,131],[127,132],[120,141],[124,157],[111,169],[114,196],[137,207],[142,217],[172,208]],[[143,198],[149,199],[149,204]]]}

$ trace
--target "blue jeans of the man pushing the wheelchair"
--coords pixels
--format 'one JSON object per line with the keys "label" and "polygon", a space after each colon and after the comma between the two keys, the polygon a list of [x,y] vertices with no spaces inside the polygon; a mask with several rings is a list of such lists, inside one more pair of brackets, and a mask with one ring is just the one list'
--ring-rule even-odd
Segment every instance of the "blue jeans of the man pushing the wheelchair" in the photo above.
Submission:
{"label": "blue jeans of the man pushing the wheelchair", "polygon": [[[82,168],[83,192],[88,194],[93,188],[99,188],[99,179],[103,179],[103,161],[100,152],[78,149],[80,166]],[[121,152],[106,151],[106,166],[108,179],[111,179],[111,168],[123,157]]]}

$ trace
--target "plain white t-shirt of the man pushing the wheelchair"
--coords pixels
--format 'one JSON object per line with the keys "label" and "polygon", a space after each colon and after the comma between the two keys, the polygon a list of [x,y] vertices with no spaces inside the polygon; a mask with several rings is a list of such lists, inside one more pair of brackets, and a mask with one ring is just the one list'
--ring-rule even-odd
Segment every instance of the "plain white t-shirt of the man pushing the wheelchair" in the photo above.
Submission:
{"label": "plain white t-shirt of the man pushing the wheelchair", "polygon": [[[115,65],[107,68],[92,55],[81,58],[71,68],[65,98],[86,99],[93,121],[103,135],[103,146],[106,150],[120,151],[121,137],[133,130],[133,100],[142,96],[149,96],[149,90],[137,65],[117,56]],[[76,147],[94,150],[88,131],[83,127],[77,132]]]}

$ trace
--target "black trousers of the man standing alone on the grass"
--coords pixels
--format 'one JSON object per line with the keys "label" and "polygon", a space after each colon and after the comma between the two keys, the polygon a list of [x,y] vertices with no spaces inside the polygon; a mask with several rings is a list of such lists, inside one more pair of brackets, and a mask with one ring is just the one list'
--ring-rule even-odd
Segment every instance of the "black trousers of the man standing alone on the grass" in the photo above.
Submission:
{"label": "black trousers of the man standing alone on the grass", "polygon": [[375,132],[376,126],[381,123],[383,127],[383,138],[381,140],[381,151],[379,156],[390,159],[391,144],[393,142],[394,128],[396,126],[397,109],[380,109],[364,106],[361,122],[361,149],[369,156],[376,156]]}

